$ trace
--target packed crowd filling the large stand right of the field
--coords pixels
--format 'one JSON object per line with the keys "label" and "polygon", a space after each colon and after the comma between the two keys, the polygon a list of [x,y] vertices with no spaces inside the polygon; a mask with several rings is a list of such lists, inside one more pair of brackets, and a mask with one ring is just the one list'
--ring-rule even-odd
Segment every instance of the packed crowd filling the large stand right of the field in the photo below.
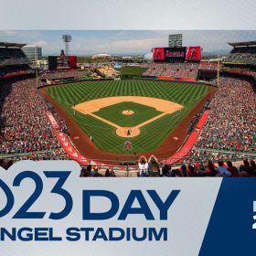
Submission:
{"label": "packed crowd filling the large stand right of the field", "polygon": [[251,82],[221,78],[211,101],[208,121],[196,146],[216,150],[256,152],[256,93]]}

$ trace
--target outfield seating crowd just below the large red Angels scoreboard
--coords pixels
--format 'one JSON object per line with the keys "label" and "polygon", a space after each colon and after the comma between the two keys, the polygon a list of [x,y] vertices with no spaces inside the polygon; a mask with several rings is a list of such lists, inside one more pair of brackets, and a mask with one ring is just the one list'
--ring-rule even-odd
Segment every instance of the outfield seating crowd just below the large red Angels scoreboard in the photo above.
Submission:
{"label": "outfield seating crowd just below the large red Angels scoreboard", "polygon": [[197,78],[199,65],[197,63],[147,63],[144,77],[176,77]]}

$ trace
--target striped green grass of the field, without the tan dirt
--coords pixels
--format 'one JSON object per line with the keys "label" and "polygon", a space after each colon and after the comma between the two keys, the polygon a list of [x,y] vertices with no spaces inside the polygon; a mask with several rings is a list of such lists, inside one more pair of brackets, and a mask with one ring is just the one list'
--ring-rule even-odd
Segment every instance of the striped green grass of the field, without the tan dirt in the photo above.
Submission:
{"label": "striped green grass of the field, without the tan dirt", "polygon": [[[171,133],[176,125],[187,115],[195,106],[197,101],[202,99],[208,93],[208,87],[201,84],[175,83],[165,81],[147,81],[147,80],[117,80],[117,81],[85,81],[80,83],[68,84],[58,87],[48,87],[48,94],[69,113],[69,115],[78,123],[81,129],[91,135],[95,144],[101,150],[116,154],[136,154],[154,150]],[[133,144],[133,151],[123,149],[123,144],[127,141],[116,135],[115,128],[102,123],[90,115],[76,113],[72,110],[74,104],[84,101],[91,101],[103,97],[114,96],[145,96],[154,97],[167,101],[174,101],[184,106],[182,111],[166,114],[165,116],[149,123],[141,128],[141,133],[129,141]],[[123,105],[124,104],[124,105]],[[129,105],[126,108],[125,104]],[[127,106],[128,106],[127,105]],[[113,123],[119,123],[121,126],[133,126],[134,123],[143,123],[149,116],[157,115],[155,109],[147,106],[138,106],[133,102],[123,102],[116,104],[114,112],[110,109],[113,106],[101,109],[98,114],[101,117],[112,120]],[[135,112],[132,116],[121,117],[120,112],[123,108]],[[144,111],[138,111],[145,107]],[[150,111],[149,111],[150,110]],[[118,112],[118,114],[116,114]],[[133,117],[129,120],[130,117]],[[131,122],[130,125],[128,123]]]}

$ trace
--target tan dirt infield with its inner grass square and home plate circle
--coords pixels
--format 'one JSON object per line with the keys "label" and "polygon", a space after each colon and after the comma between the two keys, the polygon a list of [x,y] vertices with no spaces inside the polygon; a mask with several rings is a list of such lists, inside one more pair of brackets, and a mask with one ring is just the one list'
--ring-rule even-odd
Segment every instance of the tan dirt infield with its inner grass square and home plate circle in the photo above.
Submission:
{"label": "tan dirt infield with its inner grass square and home plate circle", "polygon": [[[136,114],[123,118],[123,114],[120,114],[120,109],[125,109],[127,105],[129,105],[130,109],[136,111]],[[183,106],[172,101],[141,96],[102,98],[86,101],[73,107],[78,112],[89,114],[104,123],[112,125],[117,129],[116,134],[118,136],[128,138],[139,135],[140,128],[144,125],[182,108]]]}

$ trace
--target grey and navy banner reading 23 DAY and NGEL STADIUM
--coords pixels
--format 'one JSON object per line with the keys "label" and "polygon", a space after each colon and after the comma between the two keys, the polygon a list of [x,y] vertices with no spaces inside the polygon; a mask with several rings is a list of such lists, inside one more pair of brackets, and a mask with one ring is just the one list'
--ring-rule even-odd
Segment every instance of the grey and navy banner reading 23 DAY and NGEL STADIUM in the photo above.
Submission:
{"label": "grey and navy banner reading 23 DAY and NGEL STADIUM", "polygon": [[0,170],[1,255],[251,255],[254,179],[79,175],[72,161]]}

